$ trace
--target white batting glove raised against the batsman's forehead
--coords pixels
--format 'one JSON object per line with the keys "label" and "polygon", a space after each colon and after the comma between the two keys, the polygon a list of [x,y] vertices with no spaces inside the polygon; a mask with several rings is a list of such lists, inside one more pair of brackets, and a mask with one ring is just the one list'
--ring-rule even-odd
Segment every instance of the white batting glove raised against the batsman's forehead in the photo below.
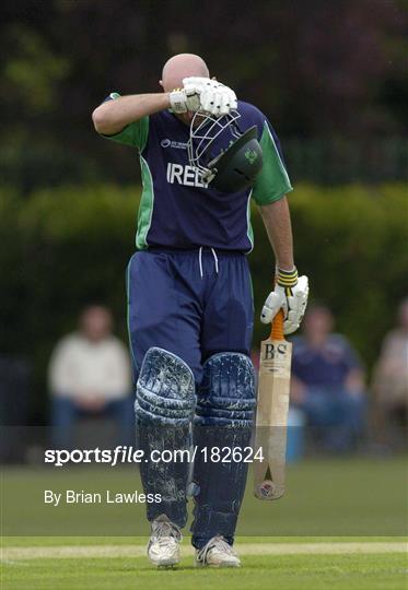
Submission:
{"label": "white batting glove raised against the batsman's forehead", "polygon": [[221,117],[228,115],[230,110],[237,107],[236,95],[217,80],[209,78],[191,76],[183,80],[186,91],[196,90],[200,96],[200,110]]}

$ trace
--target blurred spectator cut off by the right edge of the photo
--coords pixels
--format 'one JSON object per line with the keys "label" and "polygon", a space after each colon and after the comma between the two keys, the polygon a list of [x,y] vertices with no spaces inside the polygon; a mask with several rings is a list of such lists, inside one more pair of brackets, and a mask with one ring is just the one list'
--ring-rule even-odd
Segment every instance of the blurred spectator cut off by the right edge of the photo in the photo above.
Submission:
{"label": "blurred spectator cut off by the right edge of the photo", "polygon": [[[394,446],[408,426],[408,297],[398,308],[397,326],[384,339],[373,371],[376,435]],[[399,433],[397,432],[399,429]]]}

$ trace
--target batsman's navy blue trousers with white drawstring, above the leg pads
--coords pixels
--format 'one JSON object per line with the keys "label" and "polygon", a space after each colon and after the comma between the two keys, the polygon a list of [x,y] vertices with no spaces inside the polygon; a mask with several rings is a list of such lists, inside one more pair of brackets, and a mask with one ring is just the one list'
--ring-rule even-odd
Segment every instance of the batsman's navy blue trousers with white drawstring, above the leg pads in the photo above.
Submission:
{"label": "batsman's navy blue trousers with white drawstring, above the leg pads", "polygon": [[249,356],[253,293],[247,258],[211,249],[139,251],[127,272],[128,327],[137,376],[151,346],[187,363],[196,385],[218,352]]}

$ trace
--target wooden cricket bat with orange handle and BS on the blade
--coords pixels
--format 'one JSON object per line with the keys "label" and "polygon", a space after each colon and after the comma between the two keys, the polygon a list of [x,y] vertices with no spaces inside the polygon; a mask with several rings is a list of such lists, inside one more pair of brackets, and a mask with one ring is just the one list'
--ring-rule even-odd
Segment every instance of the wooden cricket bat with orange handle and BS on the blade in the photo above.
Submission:
{"label": "wooden cricket bat with orange handle and BS on the blade", "polygon": [[260,343],[255,451],[261,447],[263,461],[254,461],[254,494],[264,500],[284,494],[291,359],[292,344],[284,340],[280,310],[269,339]]}

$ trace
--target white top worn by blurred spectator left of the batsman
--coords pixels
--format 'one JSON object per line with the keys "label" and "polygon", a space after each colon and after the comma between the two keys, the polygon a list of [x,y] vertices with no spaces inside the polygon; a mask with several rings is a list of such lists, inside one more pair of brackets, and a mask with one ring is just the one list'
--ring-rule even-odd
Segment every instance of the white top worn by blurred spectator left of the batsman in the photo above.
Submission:
{"label": "white top worn by blurred spectator left of the batsman", "polygon": [[110,401],[131,390],[129,355],[114,335],[100,341],[67,335],[57,344],[48,371],[54,396]]}

